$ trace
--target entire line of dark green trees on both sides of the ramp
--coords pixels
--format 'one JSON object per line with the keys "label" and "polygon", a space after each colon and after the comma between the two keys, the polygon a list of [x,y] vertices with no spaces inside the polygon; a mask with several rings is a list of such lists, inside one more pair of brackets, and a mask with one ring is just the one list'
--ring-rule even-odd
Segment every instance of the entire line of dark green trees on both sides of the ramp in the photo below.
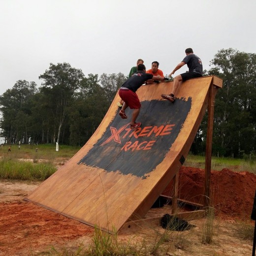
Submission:
{"label": "entire line of dark green trees on both sides of the ramp", "polygon": [[[232,48],[217,52],[204,75],[223,79],[215,99],[213,155],[255,155],[256,54]],[[68,63],[50,64],[34,82],[19,80],[0,96],[0,136],[5,143],[62,143],[82,146],[94,133],[119,87],[122,74],[88,74]],[[192,144],[203,154],[207,113]]]}

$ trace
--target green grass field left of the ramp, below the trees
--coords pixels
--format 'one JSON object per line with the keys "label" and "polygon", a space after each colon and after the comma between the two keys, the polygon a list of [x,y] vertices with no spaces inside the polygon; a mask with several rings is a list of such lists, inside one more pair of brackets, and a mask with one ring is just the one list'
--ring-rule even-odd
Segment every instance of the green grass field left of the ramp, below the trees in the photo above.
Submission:
{"label": "green grass field left of the ramp, below the trees", "polygon": [[0,147],[0,178],[15,180],[38,180],[49,178],[57,167],[54,161],[65,162],[73,157],[80,147],[62,145],[56,151],[54,144],[12,145]]}

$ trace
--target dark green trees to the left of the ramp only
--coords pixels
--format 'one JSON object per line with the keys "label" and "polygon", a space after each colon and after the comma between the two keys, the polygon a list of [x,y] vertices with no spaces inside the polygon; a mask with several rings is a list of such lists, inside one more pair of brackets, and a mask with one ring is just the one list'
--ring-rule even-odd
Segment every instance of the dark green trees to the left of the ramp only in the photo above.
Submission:
{"label": "dark green trees to the left of the ramp only", "polygon": [[126,80],[122,73],[85,77],[68,63],[51,63],[39,78],[39,90],[34,82],[19,80],[0,96],[5,143],[84,145]]}

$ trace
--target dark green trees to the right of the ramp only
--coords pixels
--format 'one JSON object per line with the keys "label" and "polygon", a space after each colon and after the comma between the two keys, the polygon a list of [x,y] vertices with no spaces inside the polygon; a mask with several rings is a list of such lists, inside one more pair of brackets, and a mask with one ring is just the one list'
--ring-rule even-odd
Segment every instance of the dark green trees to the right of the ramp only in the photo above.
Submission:
{"label": "dark green trees to the right of the ramp only", "polygon": [[[211,61],[208,75],[223,79],[215,99],[213,155],[239,157],[241,151],[250,155],[256,144],[256,54],[222,49]],[[194,141],[194,154],[201,151],[206,131],[207,115]]]}

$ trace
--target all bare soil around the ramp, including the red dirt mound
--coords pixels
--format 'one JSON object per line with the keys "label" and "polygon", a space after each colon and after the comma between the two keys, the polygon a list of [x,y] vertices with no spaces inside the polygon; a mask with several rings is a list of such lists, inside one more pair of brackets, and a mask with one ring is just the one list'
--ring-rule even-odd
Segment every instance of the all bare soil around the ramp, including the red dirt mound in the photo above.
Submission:
{"label": "all bare soil around the ramp, including the red dirt mound", "polygon": [[[204,170],[182,167],[180,171],[181,199],[201,203],[203,198]],[[23,198],[40,182],[0,180],[0,256],[49,255],[56,250],[74,252],[79,245],[88,246],[94,228],[47,210]],[[179,256],[250,256],[252,240],[243,240],[239,229],[244,220],[250,220],[256,190],[256,175],[249,172],[233,172],[228,169],[212,171],[212,204],[215,207],[214,236],[211,244],[202,244],[201,238],[206,219],[190,221],[191,230],[172,233],[175,243],[167,241],[158,255]],[[163,194],[172,195],[172,183]],[[150,217],[159,214],[152,209]],[[160,213],[168,207],[160,208]],[[252,226],[254,222],[251,222]],[[159,227],[160,233],[164,229]],[[156,230],[147,228],[135,234],[120,234],[121,241],[130,237],[146,238],[156,243]]]}

